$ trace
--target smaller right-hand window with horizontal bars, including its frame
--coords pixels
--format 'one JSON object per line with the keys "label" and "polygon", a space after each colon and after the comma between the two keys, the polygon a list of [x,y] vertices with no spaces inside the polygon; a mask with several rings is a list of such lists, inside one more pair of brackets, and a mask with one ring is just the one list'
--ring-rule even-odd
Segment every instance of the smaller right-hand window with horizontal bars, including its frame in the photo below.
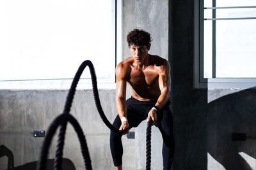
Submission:
{"label": "smaller right-hand window with horizontal bars, including its frame", "polygon": [[196,1],[195,76],[199,84],[255,86],[255,28],[255,0]]}

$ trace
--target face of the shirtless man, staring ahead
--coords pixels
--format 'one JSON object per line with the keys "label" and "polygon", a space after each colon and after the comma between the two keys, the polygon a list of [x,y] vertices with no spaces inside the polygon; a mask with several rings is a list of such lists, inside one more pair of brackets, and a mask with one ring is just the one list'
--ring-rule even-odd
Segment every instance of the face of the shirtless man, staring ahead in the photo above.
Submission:
{"label": "face of the shirtless man, staring ahead", "polygon": [[150,45],[142,45],[142,46],[136,46],[131,45],[130,51],[132,54],[132,57],[135,62],[141,63],[145,58],[148,56],[148,50],[150,49]]}

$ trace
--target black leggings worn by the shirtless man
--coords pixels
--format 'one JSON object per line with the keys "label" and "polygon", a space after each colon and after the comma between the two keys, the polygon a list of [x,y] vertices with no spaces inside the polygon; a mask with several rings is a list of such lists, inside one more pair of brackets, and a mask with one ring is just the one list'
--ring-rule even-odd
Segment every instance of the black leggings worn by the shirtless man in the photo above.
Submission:
{"label": "black leggings worn by the shirtless man", "polygon": [[[147,118],[148,112],[156,104],[156,101],[138,101],[131,97],[127,99],[127,119],[129,122],[129,129],[138,127],[138,125]],[[157,113],[157,122],[154,124],[159,128],[163,136],[163,169],[171,169],[173,153],[174,153],[174,139],[173,139],[173,118],[169,106],[170,101]],[[113,125],[116,129],[120,128],[121,120],[117,115]],[[122,165],[122,135],[116,132],[110,132],[110,149],[115,166]]]}

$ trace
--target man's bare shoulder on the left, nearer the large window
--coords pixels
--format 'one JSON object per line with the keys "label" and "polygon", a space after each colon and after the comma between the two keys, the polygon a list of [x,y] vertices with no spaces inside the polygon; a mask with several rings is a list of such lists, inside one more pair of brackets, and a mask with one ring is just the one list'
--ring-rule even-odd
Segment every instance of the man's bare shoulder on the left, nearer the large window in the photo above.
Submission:
{"label": "man's bare shoulder on the left, nearer the large window", "polygon": [[131,73],[131,57],[123,60],[116,66],[116,78],[127,78]]}

